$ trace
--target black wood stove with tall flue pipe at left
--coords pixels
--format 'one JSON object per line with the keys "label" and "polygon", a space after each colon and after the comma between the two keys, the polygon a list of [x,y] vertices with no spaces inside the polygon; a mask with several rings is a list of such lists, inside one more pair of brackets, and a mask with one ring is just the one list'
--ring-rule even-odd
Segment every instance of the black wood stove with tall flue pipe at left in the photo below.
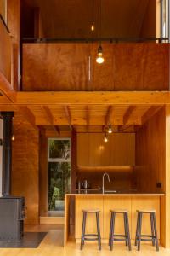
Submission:
{"label": "black wood stove with tall flue pipe at left", "polygon": [[26,200],[11,195],[12,119],[13,113],[1,113],[3,118],[3,197],[0,198],[0,241],[20,241],[24,234]]}

